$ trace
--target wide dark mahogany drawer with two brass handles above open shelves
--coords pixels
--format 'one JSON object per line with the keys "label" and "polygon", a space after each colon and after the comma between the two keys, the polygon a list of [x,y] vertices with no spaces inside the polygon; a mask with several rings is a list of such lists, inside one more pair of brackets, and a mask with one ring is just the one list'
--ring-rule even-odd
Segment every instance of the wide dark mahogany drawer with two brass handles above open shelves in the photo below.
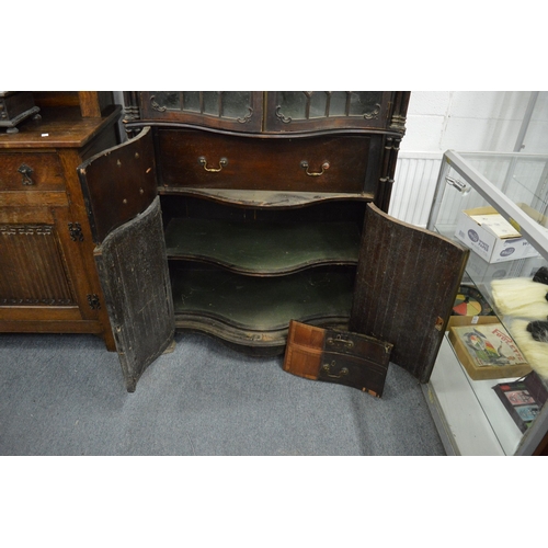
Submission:
{"label": "wide dark mahogany drawer with two brass handles above open shelves", "polygon": [[369,137],[246,138],[160,129],[165,187],[359,193]]}

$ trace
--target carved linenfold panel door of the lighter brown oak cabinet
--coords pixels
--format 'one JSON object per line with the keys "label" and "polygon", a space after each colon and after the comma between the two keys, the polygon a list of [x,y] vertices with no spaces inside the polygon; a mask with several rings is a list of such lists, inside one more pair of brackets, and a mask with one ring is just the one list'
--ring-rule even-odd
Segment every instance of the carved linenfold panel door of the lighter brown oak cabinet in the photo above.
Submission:
{"label": "carved linenfold panel door of the lighter brown oak cabinet", "polygon": [[[61,202],[65,194],[58,194]],[[76,226],[68,205],[0,209],[2,328],[24,322],[55,331],[68,321],[78,331],[84,320],[94,319],[91,286],[79,275],[81,232]]]}

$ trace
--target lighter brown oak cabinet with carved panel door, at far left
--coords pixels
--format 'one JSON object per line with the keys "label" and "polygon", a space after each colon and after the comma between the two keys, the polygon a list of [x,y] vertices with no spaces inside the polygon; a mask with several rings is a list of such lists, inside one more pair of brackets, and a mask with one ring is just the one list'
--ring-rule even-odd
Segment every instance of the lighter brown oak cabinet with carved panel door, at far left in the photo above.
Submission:
{"label": "lighter brown oak cabinet with carved panel door, at far left", "polygon": [[0,132],[0,332],[114,340],[77,168],[119,142],[121,107],[96,92],[35,92],[37,119]]}

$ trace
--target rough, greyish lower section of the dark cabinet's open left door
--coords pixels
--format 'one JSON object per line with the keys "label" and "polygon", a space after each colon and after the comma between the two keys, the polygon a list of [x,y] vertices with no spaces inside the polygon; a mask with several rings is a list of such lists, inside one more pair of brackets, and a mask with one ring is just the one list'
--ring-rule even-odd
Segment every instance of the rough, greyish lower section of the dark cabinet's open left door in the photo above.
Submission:
{"label": "rough, greyish lower section of the dark cabinet's open left door", "polygon": [[95,261],[126,388],[167,349],[175,330],[160,199],[113,230]]}

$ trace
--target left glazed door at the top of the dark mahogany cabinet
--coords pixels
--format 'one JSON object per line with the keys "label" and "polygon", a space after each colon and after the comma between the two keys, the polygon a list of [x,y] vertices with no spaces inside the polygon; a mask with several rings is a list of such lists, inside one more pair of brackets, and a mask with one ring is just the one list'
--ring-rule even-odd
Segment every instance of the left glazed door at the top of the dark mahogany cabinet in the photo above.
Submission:
{"label": "left glazed door at the top of the dark mahogany cabinet", "polygon": [[262,128],[262,92],[141,91],[138,101],[144,121],[180,122],[251,133]]}

